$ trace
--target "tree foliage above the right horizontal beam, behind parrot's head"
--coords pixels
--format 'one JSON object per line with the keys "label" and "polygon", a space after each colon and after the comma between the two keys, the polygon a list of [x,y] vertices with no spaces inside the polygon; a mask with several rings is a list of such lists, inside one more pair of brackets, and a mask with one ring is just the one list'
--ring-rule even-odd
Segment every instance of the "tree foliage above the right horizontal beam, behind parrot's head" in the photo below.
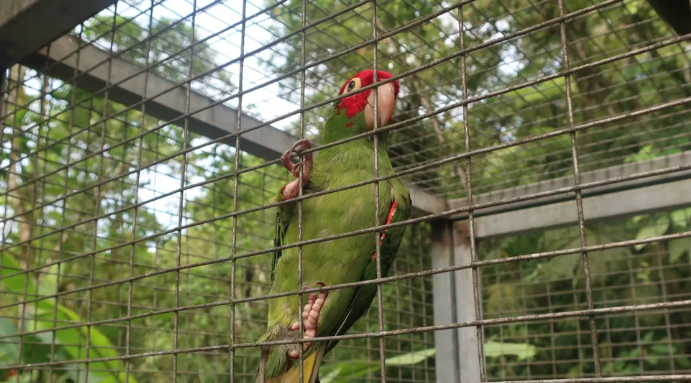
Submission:
{"label": "tree foliage above the right horizontal beam, behind parrot's head", "polygon": [[[274,3],[274,1],[268,1]],[[353,2],[313,1],[307,7],[307,22],[316,22]],[[379,34],[400,28],[442,8],[439,2],[391,0],[378,7]],[[448,4],[446,4],[448,6]],[[574,0],[568,10],[591,6],[589,0]],[[289,2],[301,9],[301,2]],[[528,0],[477,1],[463,7],[465,46],[473,47],[558,17],[556,2],[539,6]],[[301,27],[298,12],[274,11],[282,25],[280,36]],[[510,15],[509,15],[510,14]],[[328,27],[308,31],[307,60],[344,52],[372,36],[370,5],[336,17]],[[652,22],[650,20],[653,20]],[[644,1],[633,1],[604,13],[578,17],[567,23],[571,67],[592,63],[640,47],[646,41],[670,37],[667,25]],[[513,38],[501,44],[473,51],[466,56],[468,96],[519,85],[563,69],[558,25]],[[460,47],[457,12],[422,23],[377,44],[379,69],[400,74],[452,55]],[[266,67],[280,73],[300,64],[300,44],[286,44],[267,60]],[[279,60],[279,56],[288,57]],[[629,60],[579,70],[571,76],[574,122],[576,124],[611,117],[691,95],[685,54],[676,46],[665,47]],[[362,69],[370,68],[371,46],[347,53],[311,68],[308,73],[307,104],[335,95],[334,89]],[[436,65],[400,80],[401,95],[394,122],[437,110],[461,99],[460,58]],[[297,76],[282,81],[284,96],[296,100]],[[480,149],[514,139],[532,137],[569,126],[563,78],[537,83],[501,96],[469,105],[471,148]],[[400,169],[441,159],[465,151],[463,116],[460,107],[422,122],[406,124],[391,134],[388,147],[394,165]],[[685,113],[653,114],[579,132],[580,170],[588,171],[624,162],[641,161],[691,148],[686,134]],[[323,109],[307,113],[307,126],[318,127]],[[664,118],[663,118],[664,117]],[[540,143],[509,148],[473,158],[473,187],[476,193],[568,176],[571,170],[570,140],[566,135]],[[426,190],[447,198],[465,196],[463,164],[451,164],[409,177]]]}

